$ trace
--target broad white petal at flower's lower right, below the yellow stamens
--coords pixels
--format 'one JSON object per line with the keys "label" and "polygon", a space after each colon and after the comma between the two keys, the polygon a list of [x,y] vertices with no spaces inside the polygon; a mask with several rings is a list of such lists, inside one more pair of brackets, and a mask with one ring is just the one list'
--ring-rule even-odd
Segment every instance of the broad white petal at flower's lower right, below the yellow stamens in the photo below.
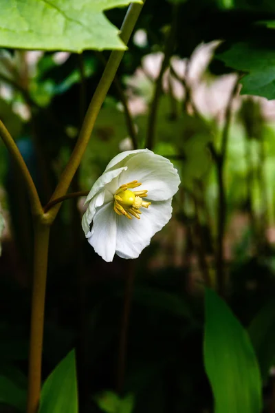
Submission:
{"label": "broad white petal at flower's lower right, below the yellow stamens", "polygon": [[129,220],[123,215],[118,215],[116,253],[122,258],[137,258],[150,244],[151,237],[170,220],[171,202],[172,198],[153,202],[148,209],[142,208],[140,220]]}

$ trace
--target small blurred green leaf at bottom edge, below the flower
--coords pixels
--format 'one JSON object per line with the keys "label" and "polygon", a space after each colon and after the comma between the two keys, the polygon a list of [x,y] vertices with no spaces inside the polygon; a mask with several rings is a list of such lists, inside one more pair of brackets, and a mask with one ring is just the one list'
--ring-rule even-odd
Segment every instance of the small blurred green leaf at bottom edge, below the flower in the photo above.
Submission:
{"label": "small blurred green leaf at bottom edge, below the flower", "polygon": [[131,413],[133,412],[135,399],[133,394],[127,394],[123,399],[120,399],[118,394],[106,390],[96,395],[95,401],[105,413]]}

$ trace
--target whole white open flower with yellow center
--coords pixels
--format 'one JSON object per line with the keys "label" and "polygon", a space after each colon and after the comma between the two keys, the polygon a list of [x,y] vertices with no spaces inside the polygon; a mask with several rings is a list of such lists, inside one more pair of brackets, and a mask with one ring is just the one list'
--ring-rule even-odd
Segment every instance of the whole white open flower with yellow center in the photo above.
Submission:
{"label": "whole white open flower with yellow center", "polygon": [[137,258],[170,220],[179,183],[176,169],[163,156],[148,149],[119,153],[85,202],[82,226],[89,244],[107,262],[115,253]]}

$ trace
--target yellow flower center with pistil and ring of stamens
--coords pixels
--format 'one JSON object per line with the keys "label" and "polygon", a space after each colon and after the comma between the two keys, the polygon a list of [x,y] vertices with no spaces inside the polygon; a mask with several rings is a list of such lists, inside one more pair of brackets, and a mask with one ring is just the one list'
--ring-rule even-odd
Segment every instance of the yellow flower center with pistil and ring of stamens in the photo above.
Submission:
{"label": "yellow flower center with pistil and ring of stamens", "polygon": [[[132,219],[133,215],[138,220],[140,219],[140,207],[148,208],[151,202],[146,202],[142,198],[147,196],[148,191],[130,191],[129,188],[140,187],[141,183],[137,180],[121,185],[115,195],[113,195],[113,209],[118,215]],[[130,215],[131,214],[131,215]]]}

